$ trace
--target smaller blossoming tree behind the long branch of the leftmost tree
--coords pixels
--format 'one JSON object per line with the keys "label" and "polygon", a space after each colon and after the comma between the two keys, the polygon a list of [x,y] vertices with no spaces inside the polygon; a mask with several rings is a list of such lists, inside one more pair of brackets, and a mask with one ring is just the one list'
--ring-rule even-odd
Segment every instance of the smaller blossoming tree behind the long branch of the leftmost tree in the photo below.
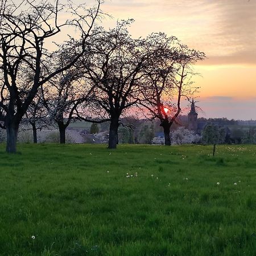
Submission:
{"label": "smaller blossoming tree behind the long branch of the leftmost tree", "polygon": [[[62,45],[59,51],[52,53],[54,62],[48,68],[61,69],[65,63],[70,62],[79,51],[80,43],[70,40]],[[88,47],[86,46],[86,52]],[[84,79],[84,71],[80,67],[72,67],[52,77],[44,86],[43,101],[48,110],[49,117],[56,122],[59,128],[60,143],[65,143],[65,133],[69,124],[79,119],[77,115],[81,105],[90,101],[94,87]],[[81,114],[81,113],[80,113]]]}

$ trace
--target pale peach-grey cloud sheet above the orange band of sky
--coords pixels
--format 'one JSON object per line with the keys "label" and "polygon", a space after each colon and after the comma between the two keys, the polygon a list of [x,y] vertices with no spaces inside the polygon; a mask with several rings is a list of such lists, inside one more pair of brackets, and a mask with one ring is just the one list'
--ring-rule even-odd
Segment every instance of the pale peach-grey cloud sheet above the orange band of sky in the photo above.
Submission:
{"label": "pale peach-grey cloud sheet above the orange band of sky", "polygon": [[256,64],[256,1],[106,0],[105,5],[115,18],[135,19],[131,34],[177,36],[204,51],[207,65]]}

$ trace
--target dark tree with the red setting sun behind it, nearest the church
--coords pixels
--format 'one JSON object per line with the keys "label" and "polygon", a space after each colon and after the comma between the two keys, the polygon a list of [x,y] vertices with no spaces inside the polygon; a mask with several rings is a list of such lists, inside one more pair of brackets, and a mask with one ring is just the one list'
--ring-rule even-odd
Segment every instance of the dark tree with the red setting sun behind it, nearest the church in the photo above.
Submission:
{"label": "dark tree with the red setting sun behind it, nearest the church", "polygon": [[197,90],[191,82],[195,75],[192,64],[203,60],[205,55],[177,44],[176,38],[162,33],[152,34],[147,40],[154,58],[147,60],[143,98],[139,104],[148,111],[150,119],[160,120],[165,144],[170,145],[170,128],[181,113],[181,98],[189,99]]}

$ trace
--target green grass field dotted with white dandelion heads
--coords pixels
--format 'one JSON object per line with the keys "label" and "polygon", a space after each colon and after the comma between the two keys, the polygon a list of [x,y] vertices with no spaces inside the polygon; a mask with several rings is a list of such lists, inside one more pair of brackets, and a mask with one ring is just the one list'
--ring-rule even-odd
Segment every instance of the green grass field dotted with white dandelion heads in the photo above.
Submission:
{"label": "green grass field dotted with white dandelion heads", "polygon": [[4,151],[1,256],[256,255],[255,146]]}

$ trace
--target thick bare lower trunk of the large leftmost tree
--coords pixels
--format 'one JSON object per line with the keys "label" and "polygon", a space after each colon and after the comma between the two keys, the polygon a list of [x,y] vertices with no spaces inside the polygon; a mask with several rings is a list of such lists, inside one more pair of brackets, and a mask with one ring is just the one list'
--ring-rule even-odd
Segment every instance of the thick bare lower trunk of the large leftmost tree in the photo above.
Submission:
{"label": "thick bare lower trunk of the large leftmost tree", "polygon": [[17,122],[6,123],[6,133],[7,133],[6,152],[8,153],[16,153],[18,130],[19,130],[19,123]]}

